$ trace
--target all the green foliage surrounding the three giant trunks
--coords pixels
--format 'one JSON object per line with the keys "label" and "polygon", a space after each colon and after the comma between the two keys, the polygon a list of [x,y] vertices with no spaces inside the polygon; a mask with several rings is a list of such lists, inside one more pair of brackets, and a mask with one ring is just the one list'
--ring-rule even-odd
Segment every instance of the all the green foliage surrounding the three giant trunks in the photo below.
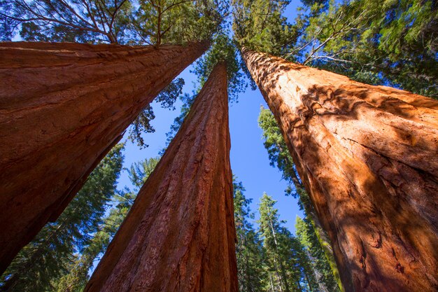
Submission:
{"label": "all the green foliage surrounding the three giant trunks", "polygon": [[[129,46],[186,45],[209,41],[209,50],[192,67],[195,90],[183,92],[176,78],[155,101],[174,110],[183,106],[167,133],[178,132],[213,67],[227,64],[230,102],[253,82],[241,58],[248,48],[325,69],[372,85],[438,99],[438,4],[433,0],[302,0],[295,20],[290,0],[4,0],[0,3],[0,39],[113,43]],[[154,49],[155,49],[154,48]],[[248,78],[249,77],[249,78]],[[254,85],[254,84],[253,84]],[[137,116],[129,137],[148,146],[143,134],[154,132],[151,106]],[[236,257],[241,291],[341,291],[339,272],[327,234],[320,227],[309,195],[269,109],[258,123],[271,166],[299,200],[304,218],[296,234],[284,227],[276,201],[264,193],[258,214],[250,209],[243,183],[234,177]],[[414,142],[413,142],[414,143]],[[123,145],[115,146],[97,166],[55,223],[20,251],[1,277],[7,291],[81,291],[94,261],[105,251],[136,192],[159,158],[129,169],[132,190],[116,190]],[[261,194],[260,194],[261,195]],[[257,217],[257,221],[255,218]]]}

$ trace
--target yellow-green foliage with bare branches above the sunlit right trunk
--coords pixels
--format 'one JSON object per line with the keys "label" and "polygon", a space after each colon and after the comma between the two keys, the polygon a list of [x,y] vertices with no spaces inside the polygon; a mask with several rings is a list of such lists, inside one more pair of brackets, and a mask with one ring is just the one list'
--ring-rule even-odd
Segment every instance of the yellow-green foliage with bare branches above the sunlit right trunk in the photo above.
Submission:
{"label": "yellow-green foliage with bare branches above the sunlit right trunk", "polygon": [[307,1],[304,11],[302,63],[438,98],[436,1]]}

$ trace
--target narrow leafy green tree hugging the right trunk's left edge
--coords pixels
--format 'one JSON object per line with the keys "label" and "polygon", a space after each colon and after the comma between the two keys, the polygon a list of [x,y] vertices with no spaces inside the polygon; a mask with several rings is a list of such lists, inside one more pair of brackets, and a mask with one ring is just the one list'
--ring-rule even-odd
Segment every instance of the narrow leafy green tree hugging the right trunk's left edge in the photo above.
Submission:
{"label": "narrow leafy green tree hugging the right trunk's left edge", "polygon": [[[324,257],[318,258],[321,262],[327,263],[332,269],[332,275],[327,277],[335,278],[338,282],[339,288],[342,289],[341,279],[339,279],[339,271],[336,267],[334,260],[332,243],[327,235],[327,232],[323,229],[323,225],[320,223],[316,211],[311,204],[309,195],[306,193],[304,185],[299,179],[295,165],[292,160],[292,156],[288,151],[288,146],[283,139],[280,127],[276,122],[274,115],[269,109],[260,107],[260,115],[258,118],[259,126],[263,131],[262,137],[264,138],[264,147],[268,151],[269,160],[272,166],[278,167],[283,172],[283,179],[290,183],[290,186],[285,190],[286,195],[293,195],[298,198],[300,208],[304,209],[306,219],[313,225],[313,235],[318,238],[320,248],[323,249]],[[316,248],[316,247],[315,247]],[[333,279],[334,280],[334,279]],[[334,289],[332,289],[334,290]]]}

